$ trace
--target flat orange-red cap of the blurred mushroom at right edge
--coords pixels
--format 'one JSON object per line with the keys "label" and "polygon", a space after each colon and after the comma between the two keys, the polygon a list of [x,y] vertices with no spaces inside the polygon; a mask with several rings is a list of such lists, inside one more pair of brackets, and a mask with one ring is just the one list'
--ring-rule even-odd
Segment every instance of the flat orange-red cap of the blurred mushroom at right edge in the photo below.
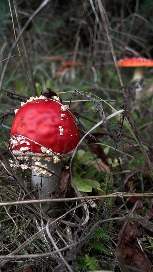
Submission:
{"label": "flat orange-red cap of the blurred mushroom at right edge", "polygon": [[140,67],[140,66],[153,66],[153,60],[149,58],[125,58],[118,61],[118,66],[125,67]]}

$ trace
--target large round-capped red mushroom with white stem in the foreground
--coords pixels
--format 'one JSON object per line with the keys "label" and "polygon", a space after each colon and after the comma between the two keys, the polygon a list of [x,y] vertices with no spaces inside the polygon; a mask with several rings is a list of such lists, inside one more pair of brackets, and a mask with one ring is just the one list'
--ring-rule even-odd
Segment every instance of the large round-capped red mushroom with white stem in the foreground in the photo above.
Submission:
{"label": "large round-capped red mushroom with white stem in the foreground", "polygon": [[80,140],[76,119],[50,89],[21,102],[15,113],[9,147],[21,168],[33,170],[32,188],[40,188],[41,199],[49,198],[58,190],[62,162],[69,160]]}

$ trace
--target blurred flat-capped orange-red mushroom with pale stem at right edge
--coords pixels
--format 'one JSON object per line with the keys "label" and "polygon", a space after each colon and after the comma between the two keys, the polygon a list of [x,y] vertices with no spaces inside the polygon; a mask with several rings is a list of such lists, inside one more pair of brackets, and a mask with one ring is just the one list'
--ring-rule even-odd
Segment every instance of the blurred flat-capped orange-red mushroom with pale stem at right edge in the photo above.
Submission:
{"label": "blurred flat-capped orange-red mushroom with pale stem at right edge", "polygon": [[118,66],[135,67],[135,72],[132,79],[132,81],[134,81],[137,79],[144,78],[143,67],[153,66],[153,60],[149,58],[141,58],[141,57],[125,58],[118,61]]}

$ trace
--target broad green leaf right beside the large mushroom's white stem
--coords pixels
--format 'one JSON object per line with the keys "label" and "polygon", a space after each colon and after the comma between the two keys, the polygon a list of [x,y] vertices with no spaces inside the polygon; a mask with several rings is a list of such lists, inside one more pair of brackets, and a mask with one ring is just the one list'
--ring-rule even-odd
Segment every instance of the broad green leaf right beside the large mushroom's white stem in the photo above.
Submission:
{"label": "broad green leaf right beside the large mushroom's white stem", "polygon": [[[73,180],[81,192],[92,192],[92,188],[100,187],[100,184],[98,181],[84,178],[82,179],[77,173],[74,174]],[[71,184],[73,186],[73,182],[71,181]]]}

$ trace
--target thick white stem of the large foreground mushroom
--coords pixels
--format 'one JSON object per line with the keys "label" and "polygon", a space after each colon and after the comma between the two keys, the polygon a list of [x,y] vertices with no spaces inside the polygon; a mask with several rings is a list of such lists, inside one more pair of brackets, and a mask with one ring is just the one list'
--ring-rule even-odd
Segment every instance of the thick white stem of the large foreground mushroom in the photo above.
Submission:
{"label": "thick white stem of the large foreground mushroom", "polygon": [[[32,162],[33,164],[37,164],[38,162]],[[38,188],[36,198],[47,199],[49,197],[49,193],[58,191],[60,184],[60,175],[62,170],[62,162],[54,163],[53,161],[41,161],[41,165],[47,165],[46,168],[51,172],[54,172],[55,175],[44,174],[43,176],[39,175],[39,170],[42,171],[44,169],[41,166],[38,167],[37,171],[32,170],[32,190]],[[45,170],[44,170],[45,172]],[[36,175],[37,173],[37,175]],[[41,173],[40,173],[41,174]]]}

